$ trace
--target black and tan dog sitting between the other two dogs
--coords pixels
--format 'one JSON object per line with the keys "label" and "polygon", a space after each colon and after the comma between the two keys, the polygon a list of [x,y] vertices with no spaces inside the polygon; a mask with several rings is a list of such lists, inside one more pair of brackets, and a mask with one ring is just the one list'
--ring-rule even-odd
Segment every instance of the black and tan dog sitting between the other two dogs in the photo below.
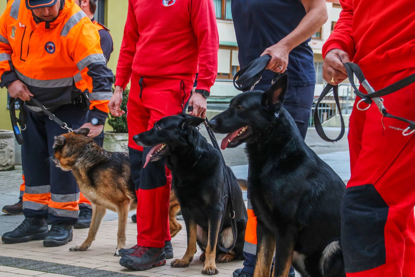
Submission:
{"label": "black and tan dog sitting between the other two dogs", "polygon": [[224,200],[225,175],[219,150],[195,128],[203,121],[203,118],[186,114],[167,116],[157,121],[151,130],[135,135],[133,140],[138,145],[152,147],[144,167],[148,162],[166,157],[166,165],[171,170],[171,186],[181,206],[188,239],[185,255],[171,262],[171,266],[187,267],[193,260],[197,242],[203,250],[200,260],[205,262],[202,273],[213,275],[218,273],[215,260],[230,262],[243,258],[248,216],[241,188],[227,167],[238,233],[234,248],[221,252],[217,243],[229,248],[234,239],[229,216],[225,216],[222,231],[219,230],[222,214],[227,208]]}

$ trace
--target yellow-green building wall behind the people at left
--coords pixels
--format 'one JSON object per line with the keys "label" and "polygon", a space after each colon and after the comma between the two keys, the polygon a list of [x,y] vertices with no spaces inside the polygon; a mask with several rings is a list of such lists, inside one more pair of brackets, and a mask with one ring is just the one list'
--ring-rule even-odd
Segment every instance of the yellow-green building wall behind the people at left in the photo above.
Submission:
{"label": "yellow-green building wall behind the people at left", "polygon": [[[6,1],[0,1],[0,11],[3,12],[5,8]],[[107,0],[105,3],[105,25],[110,29],[114,41],[114,51],[111,54],[108,67],[112,69],[114,74],[127,18],[127,8],[128,0]],[[12,130],[9,110],[7,110],[7,90],[5,88],[0,89],[0,130]],[[110,125],[105,124],[105,130],[111,130]]]}

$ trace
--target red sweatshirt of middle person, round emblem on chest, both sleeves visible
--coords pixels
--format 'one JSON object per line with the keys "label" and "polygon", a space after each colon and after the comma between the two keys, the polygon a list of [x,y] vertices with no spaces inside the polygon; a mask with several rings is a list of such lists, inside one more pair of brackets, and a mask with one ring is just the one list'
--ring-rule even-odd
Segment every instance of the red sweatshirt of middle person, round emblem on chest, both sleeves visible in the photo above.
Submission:
{"label": "red sweatshirt of middle person, round emblem on chest, both sleeves visible", "polygon": [[144,77],[199,73],[198,89],[217,75],[219,37],[212,0],[129,0],[115,85]]}

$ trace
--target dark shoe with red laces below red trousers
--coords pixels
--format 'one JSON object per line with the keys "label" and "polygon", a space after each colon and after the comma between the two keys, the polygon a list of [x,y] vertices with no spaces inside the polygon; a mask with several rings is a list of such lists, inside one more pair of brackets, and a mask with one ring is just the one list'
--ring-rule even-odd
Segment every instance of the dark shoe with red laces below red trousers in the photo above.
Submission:
{"label": "dark shoe with red laces below red trousers", "polygon": [[137,246],[129,255],[120,259],[120,265],[134,270],[148,270],[166,264],[164,248]]}

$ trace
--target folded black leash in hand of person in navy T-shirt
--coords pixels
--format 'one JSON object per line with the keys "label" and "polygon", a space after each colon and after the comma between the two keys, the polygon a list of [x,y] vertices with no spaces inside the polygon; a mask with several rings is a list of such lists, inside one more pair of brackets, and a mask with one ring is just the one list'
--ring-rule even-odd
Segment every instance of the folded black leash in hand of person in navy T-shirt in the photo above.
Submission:
{"label": "folded black leash in hand of person in navy T-shirt", "polygon": [[239,70],[233,79],[234,86],[239,91],[251,91],[261,79],[261,74],[271,60],[270,55],[264,55],[251,61]]}

